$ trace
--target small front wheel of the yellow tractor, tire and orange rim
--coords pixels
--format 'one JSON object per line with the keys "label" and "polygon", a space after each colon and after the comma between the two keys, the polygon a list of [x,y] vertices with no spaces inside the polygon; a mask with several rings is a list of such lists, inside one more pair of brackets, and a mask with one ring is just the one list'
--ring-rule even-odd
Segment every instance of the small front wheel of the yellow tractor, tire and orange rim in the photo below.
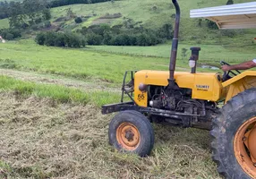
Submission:
{"label": "small front wheel of the yellow tractor, tire and orange rim", "polygon": [[123,111],[109,124],[109,143],[119,151],[148,156],[154,146],[154,131],[149,119],[137,111]]}

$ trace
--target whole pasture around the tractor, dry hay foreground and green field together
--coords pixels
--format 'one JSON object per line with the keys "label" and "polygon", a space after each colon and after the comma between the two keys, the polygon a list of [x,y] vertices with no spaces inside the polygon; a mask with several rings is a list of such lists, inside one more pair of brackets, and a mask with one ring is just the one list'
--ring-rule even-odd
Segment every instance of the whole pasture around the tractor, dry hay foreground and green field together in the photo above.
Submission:
{"label": "whole pasture around the tractor, dry hay foreground and green field together", "polygon": [[[0,176],[220,178],[207,131],[154,124],[156,143],[148,158],[108,145],[113,115],[101,115],[100,106],[119,101],[125,70],[167,70],[167,46],[68,49],[30,39],[0,44]],[[234,62],[252,54],[202,47],[201,58],[209,60],[213,52]],[[180,52],[177,64],[177,70],[189,70]]]}

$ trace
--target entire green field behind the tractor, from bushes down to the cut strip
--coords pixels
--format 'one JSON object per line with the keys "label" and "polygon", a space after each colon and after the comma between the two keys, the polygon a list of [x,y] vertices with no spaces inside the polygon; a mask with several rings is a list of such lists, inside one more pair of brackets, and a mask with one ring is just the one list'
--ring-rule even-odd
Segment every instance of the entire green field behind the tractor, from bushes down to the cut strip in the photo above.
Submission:
{"label": "entire green field behind the tractor, from bushes down to the cut strip", "polygon": [[[189,48],[181,44],[177,65],[188,68]],[[182,57],[182,48],[188,49]],[[108,81],[120,85],[126,70],[167,70],[170,45],[156,47],[87,47],[84,49],[40,47],[32,40],[0,44],[2,68],[60,74],[86,81]],[[37,52],[37,53],[35,53]],[[219,66],[220,60],[239,63],[252,59],[252,47],[202,45],[200,63]],[[177,68],[179,70],[179,68]],[[199,68],[205,72],[204,69]]]}

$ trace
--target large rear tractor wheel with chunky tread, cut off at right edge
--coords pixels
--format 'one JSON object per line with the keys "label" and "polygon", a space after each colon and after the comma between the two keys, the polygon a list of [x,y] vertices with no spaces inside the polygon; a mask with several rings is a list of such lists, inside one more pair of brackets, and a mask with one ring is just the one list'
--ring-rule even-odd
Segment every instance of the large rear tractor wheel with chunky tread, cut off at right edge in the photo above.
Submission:
{"label": "large rear tractor wheel with chunky tread, cut off at right edge", "polygon": [[212,158],[218,173],[232,179],[256,178],[256,89],[229,100],[212,125]]}

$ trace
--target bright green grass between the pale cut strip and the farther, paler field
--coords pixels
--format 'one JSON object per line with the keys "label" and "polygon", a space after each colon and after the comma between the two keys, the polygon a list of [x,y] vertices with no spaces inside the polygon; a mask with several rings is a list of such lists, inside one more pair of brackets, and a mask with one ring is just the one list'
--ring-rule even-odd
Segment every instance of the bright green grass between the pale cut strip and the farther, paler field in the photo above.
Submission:
{"label": "bright green grass between the pale cut strip and the farther, paler field", "polygon": [[[0,66],[120,83],[125,70],[165,70],[167,59],[112,55],[86,49],[40,47],[31,40],[0,44]],[[35,53],[36,52],[36,53]],[[147,62],[147,63],[146,63]]]}

